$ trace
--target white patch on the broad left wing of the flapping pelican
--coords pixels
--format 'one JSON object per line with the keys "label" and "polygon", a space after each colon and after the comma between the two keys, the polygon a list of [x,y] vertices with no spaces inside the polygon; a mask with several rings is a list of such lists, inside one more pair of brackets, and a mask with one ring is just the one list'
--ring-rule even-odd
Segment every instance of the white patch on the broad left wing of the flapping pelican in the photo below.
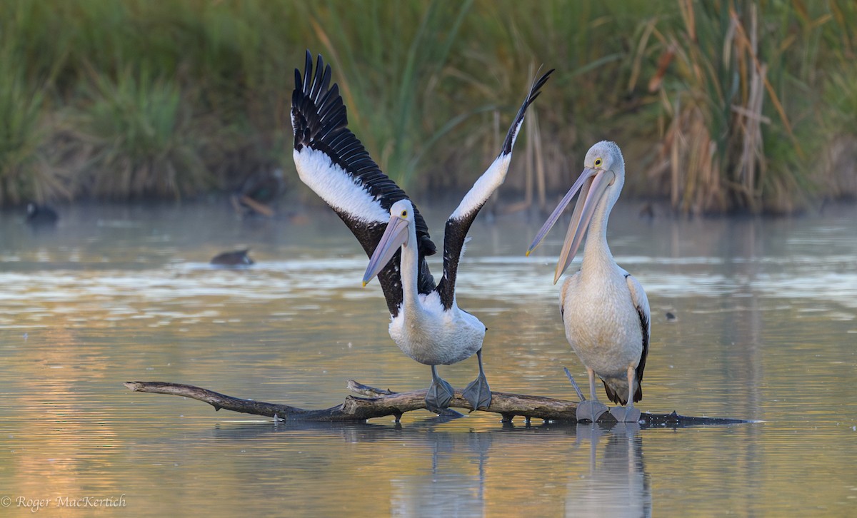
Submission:
{"label": "white patch on the broad left wing of the flapping pelican", "polygon": [[324,152],[309,146],[292,153],[301,181],[318,194],[327,205],[338,211],[347,212],[365,222],[387,223],[389,212],[381,207],[381,202],[358,184],[347,171]]}

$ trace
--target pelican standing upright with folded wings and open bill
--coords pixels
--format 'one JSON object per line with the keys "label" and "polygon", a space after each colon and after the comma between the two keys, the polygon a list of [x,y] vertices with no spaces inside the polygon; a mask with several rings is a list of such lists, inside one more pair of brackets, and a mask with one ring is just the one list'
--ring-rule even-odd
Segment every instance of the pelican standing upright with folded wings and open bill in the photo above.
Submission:
{"label": "pelican standing upright with folded wings and open bill", "polygon": [[637,421],[640,416],[634,402],[643,399],[640,382],[649,353],[649,300],[637,279],[616,264],[607,244],[607,220],[624,183],[625,160],[619,146],[605,140],[590,147],[583,173],[527,250],[530,255],[542,242],[579,190],[554,273],[555,284],[574,259],[586,233],[580,271],[568,277],[560,290],[566,338],[589,375],[590,399],[578,406],[578,420],[595,422],[607,411],[596,396],[596,374],[604,383],[608,399],[626,405],[610,410],[616,420]]}

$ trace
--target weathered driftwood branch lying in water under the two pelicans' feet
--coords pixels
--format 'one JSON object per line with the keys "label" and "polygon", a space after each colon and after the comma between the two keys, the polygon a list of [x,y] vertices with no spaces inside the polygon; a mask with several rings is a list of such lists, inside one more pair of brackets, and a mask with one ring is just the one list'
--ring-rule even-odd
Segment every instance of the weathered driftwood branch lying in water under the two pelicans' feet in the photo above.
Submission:
{"label": "weathered driftwood branch lying in water under the two pelicans' feet", "polygon": [[[392,415],[399,420],[405,412],[419,410],[425,407],[426,390],[412,392],[393,392],[359,384],[354,380],[348,381],[348,390],[365,397],[346,396],[345,402],[331,408],[311,410],[291,407],[275,403],[259,402],[237,397],[225,396],[212,390],[201,389],[193,385],[165,383],[160,381],[129,381],[125,386],[136,392],[151,392],[154,394],[171,394],[184,396],[207,402],[215,410],[225,408],[243,414],[264,415],[282,420],[308,421],[365,421],[377,417]],[[575,422],[578,403],[554,399],[552,397],[526,396],[507,392],[491,392],[491,406],[484,412],[493,412],[503,416],[503,421],[511,421],[515,416],[530,419]],[[470,403],[461,396],[461,390],[455,391],[451,407],[473,410]],[[454,410],[449,414],[460,415]],[[614,421],[612,415],[603,414],[599,422]],[[642,414],[640,423],[643,426],[695,426],[695,425],[728,425],[744,423],[744,420],[722,419],[711,417],[688,417],[673,412],[672,414]]]}

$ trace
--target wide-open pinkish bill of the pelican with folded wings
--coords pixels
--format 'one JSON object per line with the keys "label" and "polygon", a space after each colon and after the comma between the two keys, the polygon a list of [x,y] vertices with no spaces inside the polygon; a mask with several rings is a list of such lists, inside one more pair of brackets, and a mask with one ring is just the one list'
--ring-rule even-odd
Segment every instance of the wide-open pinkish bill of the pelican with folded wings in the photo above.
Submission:
{"label": "wide-open pinkish bill of the pelican with folded wings", "polygon": [[[580,197],[578,198],[577,205],[574,206],[572,221],[566,233],[566,241],[562,243],[560,259],[556,264],[554,284],[560,280],[562,272],[566,271],[566,268],[572,262],[572,259],[574,259],[574,255],[578,253],[578,248],[580,247],[580,243],[583,242],[586,229],[589,227],[590,221],[592,221],[595,208],[598,206],[598,202],[601,201],[607,188],[613,184],[615,178],[616,176],[613,171],[596,170],[588,167],[584,169],[584,172],[580,173],[577,182],[574,182],[572,188],[568,189],[566,195],[560,200],[560,205],[556,206],[554,212],[548,217],[548,221],[542,225],[542,229],[536,234],[536,239],[533,240],[530,248],[527,250],[527,255],[530,255],[530,252],[539,246],[544,236],[548,235],[548,231],[560,218],[562,211],[571,203],[574,195],[580,191]],[[583,201],[582,203],[581,200]]]}

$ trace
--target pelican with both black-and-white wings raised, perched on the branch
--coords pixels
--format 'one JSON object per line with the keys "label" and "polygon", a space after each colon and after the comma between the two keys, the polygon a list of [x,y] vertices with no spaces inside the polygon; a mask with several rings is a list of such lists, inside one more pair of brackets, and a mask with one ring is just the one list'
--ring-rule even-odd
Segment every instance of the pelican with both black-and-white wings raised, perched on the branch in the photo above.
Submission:
{"label": "pelican with both black-and-white wings raised, perched on the branch", "polygon": [[387,299],[393,342],[412,359],[431,366],[432,384],[425,401],[433,412],[449,407],[454,396],[452,385],[440,378],[437,366],[457,363],[473,354],[479,362],[479,375],[467,385],[463,396],[475,410],[491,404],[491,390],[482,369],[486,328],[458,308],[455,277],[470,224],[506,178],[524,113],[551,72],[530,87],[500,155],[446,220],[443,277],[435,284],[425,259],[436,251],[428,226],[405,191],[381,172],[347,128],[339,86],[329,86],[330,66],[326,67],[319,56],[313,75],[312,56],[307,51],[303,78],[295,70],[291,123],[295,131],[292,157],[298,176],[339,214],[370,256],[363,286],[378,277]]}

